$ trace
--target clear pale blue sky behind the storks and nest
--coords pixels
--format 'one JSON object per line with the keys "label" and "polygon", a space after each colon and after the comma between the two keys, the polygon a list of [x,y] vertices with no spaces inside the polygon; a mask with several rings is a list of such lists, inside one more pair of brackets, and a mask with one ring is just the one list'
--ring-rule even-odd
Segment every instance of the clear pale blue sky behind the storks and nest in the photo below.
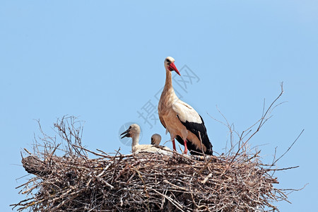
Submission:
{"label": "clear pale blue sky behind the storks and nest", "polygon": [[[130,147],[119,141],[122,124],[169,139],[160,123],[151,129],[139,112],[165,83],[163,60],[187,65],[199,81],[182,100],[204,118],[218,153],[228,129],[216,105],[237,131],[252,125],[280,93],[280,102],[251,145],[264,161],[281,155],[302,129],[304,134],[278,162],[300,165],[276,173],[276,187],[299,189],[278,203],[281,211],[317,208],[318,1],[0,1],[0,211],[24,196],[15,189],[29,177],[20,151],[31,149],[65,114],[85,121],[83,144],[107,152]],[[167,146],[172,146],[171,142]]]}

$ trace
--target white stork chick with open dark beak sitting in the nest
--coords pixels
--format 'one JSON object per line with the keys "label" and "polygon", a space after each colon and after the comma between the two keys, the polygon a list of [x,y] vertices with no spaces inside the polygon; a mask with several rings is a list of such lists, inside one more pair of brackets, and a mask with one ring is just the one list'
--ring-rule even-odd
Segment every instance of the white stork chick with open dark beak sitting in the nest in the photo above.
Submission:
{"label": "white stork chick with open dark beak sitting in the nest", "polygon": [[132,139],[131,143],[131,152],[132,153],[139,153],[141,151],[147,151],[147,152],[158,152],[158,153],[165,153],[167,154],[167,151],[161,149],[160,147],[156,147],[152,144],[139,144],[139,134],[140,134],[140,126],[138,124],[131,124],[129,126],[129,129],[124,131],[122,134],[122,139],[124,137],[130,137]]}

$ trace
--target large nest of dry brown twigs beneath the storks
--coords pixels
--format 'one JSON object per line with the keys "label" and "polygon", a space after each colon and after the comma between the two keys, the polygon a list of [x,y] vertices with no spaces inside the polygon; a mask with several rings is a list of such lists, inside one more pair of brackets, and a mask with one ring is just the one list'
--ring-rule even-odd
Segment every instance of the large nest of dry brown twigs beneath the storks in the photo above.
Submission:
{"label": "large nest of dry brown twigs beneath the storks", "polygon": [[[54,127],[64,146],[44,134],[22,159],[32,174],[20,185],[18,211],[278,211],[288,201],[274,165],[247,148],[216,156],[122,155],[81,145],[81,127]],[[40,128],[41,132],[42,129]],[[42,132],[43,133],[43,132]],[[66,142],[65,142],[66,141]],[[239,145],[240,146],[240,145]],[[244,147],[244,146],[240,146]],[[290,167],[291,168],[291,167]],[[289,168],[285,168],[289,169]],[[285,170],[281,169],[281,170]]]}

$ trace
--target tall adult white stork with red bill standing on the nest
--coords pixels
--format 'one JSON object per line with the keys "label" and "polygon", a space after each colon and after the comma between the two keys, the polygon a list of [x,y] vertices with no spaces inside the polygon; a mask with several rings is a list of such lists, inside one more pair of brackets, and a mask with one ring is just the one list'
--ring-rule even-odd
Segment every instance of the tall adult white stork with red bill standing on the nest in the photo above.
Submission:
{"label": "tall adult white stork with red bill standing on the nest", "polygon": [[[158,104],[158,114],[161,124],[169,131],[175,149],[175,139],[184,145],[184,153],[188,148],[192,155],[213,155],[212,144],[206,133],[206,126],[202,117],[187,103],[182,102],[175,95],[172,87],[172,71],[180,75],[175,66],[175,59],[165,59],[165,87]],[[201,141],[202,145],[201,145]]]}

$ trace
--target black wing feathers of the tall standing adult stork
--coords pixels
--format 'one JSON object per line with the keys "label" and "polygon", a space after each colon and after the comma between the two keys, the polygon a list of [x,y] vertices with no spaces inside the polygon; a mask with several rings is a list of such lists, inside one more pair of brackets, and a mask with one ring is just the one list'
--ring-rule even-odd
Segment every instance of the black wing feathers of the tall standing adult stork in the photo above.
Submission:
{"label": "black wing feathers of the tall standing adult stork", "polygon": [[[199,115],[200,116],[200,115]],[[178,116],[177,116],[178,117]],[[200,116],[202,123],[198,124],[195,122],[182,122],[179,117],[179,121],[187,128],[187,130],[191,131],[196,137],[200,140],[199,132],[201,135],[201,141],[204,146],[206,146],[206,151],[204,152],[206,155],[213,155],[212,151],[212,144],[210,140],[208,139],[208,134],[206,133],[206,126],[204,126],[204,120]],[[182,140],[181,136],[176,136],[176,139],[179,143],[184,145],[184,141]],[[202,153],[201,148],[197,148],[192,144],[191,141],[187,140],[187,147],[192,155],[200,155]]]}

